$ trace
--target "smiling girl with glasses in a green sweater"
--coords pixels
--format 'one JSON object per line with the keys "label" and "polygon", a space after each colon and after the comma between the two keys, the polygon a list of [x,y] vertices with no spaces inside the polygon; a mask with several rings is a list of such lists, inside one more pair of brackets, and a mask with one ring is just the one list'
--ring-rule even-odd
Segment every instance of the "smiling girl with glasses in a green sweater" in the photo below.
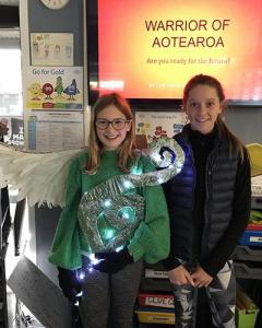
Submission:
{"label": "smiling girl with glasses in a green sweater", "polygon": [[[143,260],[153,263],[168,255],[168,212],[160,186],[123,187],[123,203],[117,192],[107,198],[108,188],[99,184],[155,168],[134,151],[134,122],[126,99],[103,95],[92,116],[88,150],[71,164],[49,260],[58,267],[59,285],[69,300],[83,292],[84,327],[129,328]],[[86,195],[97,186],[102,200],[92,196],[87,202]]]}

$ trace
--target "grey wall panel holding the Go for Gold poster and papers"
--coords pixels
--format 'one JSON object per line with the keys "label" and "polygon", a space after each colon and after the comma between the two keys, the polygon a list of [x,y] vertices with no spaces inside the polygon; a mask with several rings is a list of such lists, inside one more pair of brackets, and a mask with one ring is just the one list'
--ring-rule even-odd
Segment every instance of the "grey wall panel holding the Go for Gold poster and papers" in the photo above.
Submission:
{"label": "grey wall panel holding the Go for Gold poster and papers", "polygon": [[31,151],[84,144],[83,5],[74,0],[50,10],[41,1],[21,3],[24,137]]}

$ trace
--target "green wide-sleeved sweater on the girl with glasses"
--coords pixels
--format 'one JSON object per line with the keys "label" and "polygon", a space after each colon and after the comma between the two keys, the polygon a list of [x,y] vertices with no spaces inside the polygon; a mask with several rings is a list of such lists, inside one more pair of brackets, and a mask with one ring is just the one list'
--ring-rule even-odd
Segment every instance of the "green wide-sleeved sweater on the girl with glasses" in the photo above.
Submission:
{"label": "green wide-sleeved sweater on the girl with glasses", "polygon": [[[116,151],[105,151],[97,173],[90,175],[83,166],[87,153],[81,153],[71,164],[68,181],[66,207],[60,215],[53,238],[49,261],[58,267],[75,269],[82,267],[82,255],[91,254],[88,241],[80,229],[78,209],[82,196],[93,187],[123,172],[117,166]],[[139,172],[155,171],[147,157],[140,156],[135,162]],[[170,246],[168,210],[162,186],[138,188],[145,199],[144,220],[128,242],[129,253],[134,261],[143,258],[154,263],[167,257]]]}

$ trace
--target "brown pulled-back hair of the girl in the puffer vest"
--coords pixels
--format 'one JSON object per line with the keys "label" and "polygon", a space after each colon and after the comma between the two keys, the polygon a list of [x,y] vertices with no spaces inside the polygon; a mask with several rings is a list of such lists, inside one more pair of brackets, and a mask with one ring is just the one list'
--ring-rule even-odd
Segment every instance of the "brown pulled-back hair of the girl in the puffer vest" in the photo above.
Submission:
{"label": "brown pulled-back hair of the girl in the puffer vest", "polygon": [[[217,96],[222,105],[222,109],[223,109],[222,114],[223,114],[226,109],[225,92],[223,90],[221,82],[211,75],[199,74],[199,75],[194,75],[192,79],[188,81],[188,83],[183,89],[183,99],[182,99],[183,107],[187,104],[190,91],[200,84],[207,85],[216,90]],[[222,131],[222,133],[225,133],[229,140],[229,152],[231,153],[233,150],[237,151],[240,154],[241,160],[243,160],[243,144],[226,126],[226,124],[222,118],[222,114],[217,116],[216,124],[218,126],[218,129]]]}

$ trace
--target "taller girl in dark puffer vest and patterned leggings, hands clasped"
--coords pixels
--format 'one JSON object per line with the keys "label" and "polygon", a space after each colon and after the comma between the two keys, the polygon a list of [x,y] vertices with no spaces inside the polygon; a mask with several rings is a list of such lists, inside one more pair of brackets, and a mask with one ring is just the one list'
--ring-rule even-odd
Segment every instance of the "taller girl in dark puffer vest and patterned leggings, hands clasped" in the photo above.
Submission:
{"label": "taller girl in dark puffer vest and patterned leggings, hands clasped", "polygon": [[183,108],[189,124],[174,138],[186,151],[186,164],[164,186],[171,229],[165,266],[174,285],[176,328],[233,328],[231,254],[249,221],[249,159],[222,119],[219,81],[193,77],[183,90]]}

